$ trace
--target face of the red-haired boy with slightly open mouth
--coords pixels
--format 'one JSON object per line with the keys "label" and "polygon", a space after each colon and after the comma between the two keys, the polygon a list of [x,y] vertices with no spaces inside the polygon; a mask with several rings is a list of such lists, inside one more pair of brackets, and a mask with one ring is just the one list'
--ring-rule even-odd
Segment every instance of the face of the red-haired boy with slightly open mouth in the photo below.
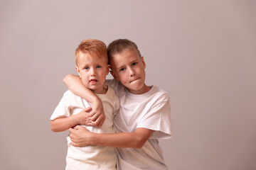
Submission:
{"label": "face of the red-haired boy with slightly open mouth", "polygon": [[93,55],[82,52],[78,55],[78,66],[75,69],[82,79],[82,83],[88,89],[94,91],[95,94],[105,93],[103,84],[110,71],[110,65],[107,64],[107,60],[103,57],[93,57]]}

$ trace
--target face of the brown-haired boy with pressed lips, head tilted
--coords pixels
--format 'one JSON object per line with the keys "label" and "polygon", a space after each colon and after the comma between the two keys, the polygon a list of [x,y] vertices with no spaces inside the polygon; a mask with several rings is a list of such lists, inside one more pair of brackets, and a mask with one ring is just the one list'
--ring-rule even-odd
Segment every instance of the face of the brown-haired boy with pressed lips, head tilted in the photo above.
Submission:
{"label": "face of the brown-haired boy with pressed lips, head tilted", "polygon": [[148,90],[145,82],[146,64],[137,50],[127,49],[113,55],[110,60],[111,74],[117,81],[127,87],[132,94],[144,94]]}

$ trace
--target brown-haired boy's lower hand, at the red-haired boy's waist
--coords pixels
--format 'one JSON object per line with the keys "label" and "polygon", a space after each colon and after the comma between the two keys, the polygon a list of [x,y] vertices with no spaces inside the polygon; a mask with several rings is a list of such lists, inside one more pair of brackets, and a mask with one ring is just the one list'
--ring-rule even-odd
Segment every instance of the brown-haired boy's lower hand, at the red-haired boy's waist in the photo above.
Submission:
{"label": "brown-haired boy's lower hand, at the red-haired boy's waist", "polygon": [[89,138],[90,138],[90,131],[86,128],[76,125],[74,128],[69,129],[70,132],[70,140],[72,141],[70,145],[74,147],[85,147],[90,145]]}

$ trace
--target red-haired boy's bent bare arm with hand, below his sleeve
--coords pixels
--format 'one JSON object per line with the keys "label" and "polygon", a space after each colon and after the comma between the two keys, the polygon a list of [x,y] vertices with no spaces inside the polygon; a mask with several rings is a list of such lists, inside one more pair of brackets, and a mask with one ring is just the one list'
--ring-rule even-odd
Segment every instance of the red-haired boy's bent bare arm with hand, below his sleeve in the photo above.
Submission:
{"label": "red-haired boy's bent bare arm with hand, below his sleeve", "polygon": [[63,132],[72,128],[75,125],[90,125],[91,121],[88,119],[88,114],[92,108],[85,108],[80,113],[76,115],[70,115],[65,118],[56,118],[55,120],[50,120],[50,130],[53,132]]}

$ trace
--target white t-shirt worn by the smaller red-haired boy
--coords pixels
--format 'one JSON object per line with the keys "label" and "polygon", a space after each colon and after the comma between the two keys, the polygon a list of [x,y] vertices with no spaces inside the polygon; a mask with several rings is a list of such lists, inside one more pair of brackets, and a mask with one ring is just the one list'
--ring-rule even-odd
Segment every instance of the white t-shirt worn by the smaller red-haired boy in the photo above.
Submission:
{"label": "white t-shirt worn by the smaller red-haired boy", "polygon": [[[107,85],[106,85],[107,86]],[[84,126],[91,132],[114,133],[113,118],[119,109],[119,98],[110,87],[106,94],[96,94],[102,101],[106,120],[101,128]],[[66,91],[58,106],[55,108],[50,120],[65,118],[70,115],[80,113],[83,109],[90,107],[91,104],[85,99],[76,96],[71,91]],[[117,152],[114,147],[104,147],[100,145],[89,145],[86,147],[74,147],[68,140],[68,154],[66,157],[66,170],[79,169],[116,169]]]}

